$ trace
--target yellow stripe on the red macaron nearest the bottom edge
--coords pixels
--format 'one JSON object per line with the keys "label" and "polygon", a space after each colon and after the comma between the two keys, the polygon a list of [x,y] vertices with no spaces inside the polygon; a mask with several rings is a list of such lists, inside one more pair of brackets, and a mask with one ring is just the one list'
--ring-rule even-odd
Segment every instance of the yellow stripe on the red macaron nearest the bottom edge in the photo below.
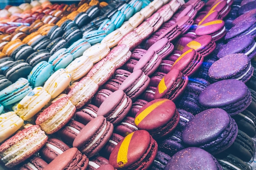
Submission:
{"label": "yellow stripe on the red macaron nearest the bottom edge", "polygon": [[121,146],[118,150],[117,153],[117,165],[122,168],[127,162],[127,154],[128,154],[128,148],[129,148],[129,144],[130,141],[132,139],[132,135],[134,132],[130,133],[129,135],[127,135],[124,140],[121,143]]}

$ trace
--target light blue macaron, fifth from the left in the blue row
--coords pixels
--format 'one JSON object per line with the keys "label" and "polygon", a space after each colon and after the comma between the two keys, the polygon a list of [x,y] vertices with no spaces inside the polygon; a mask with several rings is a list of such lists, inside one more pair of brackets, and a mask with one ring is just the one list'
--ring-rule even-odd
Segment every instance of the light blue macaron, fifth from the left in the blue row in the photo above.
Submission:
{"label": "light blue macaron, fifth from the left in the blue row", "polygon": [[86,38],[92,45],[101,42],[101,40],[106,36],[105,31],[99,29],[83,34],[83,38]]}

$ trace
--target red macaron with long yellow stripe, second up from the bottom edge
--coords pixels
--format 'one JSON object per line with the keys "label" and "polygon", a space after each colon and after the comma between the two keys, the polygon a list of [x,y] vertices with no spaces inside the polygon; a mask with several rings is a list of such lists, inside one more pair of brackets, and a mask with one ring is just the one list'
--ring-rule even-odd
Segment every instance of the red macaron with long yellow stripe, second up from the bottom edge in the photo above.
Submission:
{"label": "red macaron with long yellow stripe, second up from the bottom edge", "polygon": [[170,134],[179,120],[179,113],[171,100],[155,99],[139,110],[135,116],[135,125],[158,139]]}

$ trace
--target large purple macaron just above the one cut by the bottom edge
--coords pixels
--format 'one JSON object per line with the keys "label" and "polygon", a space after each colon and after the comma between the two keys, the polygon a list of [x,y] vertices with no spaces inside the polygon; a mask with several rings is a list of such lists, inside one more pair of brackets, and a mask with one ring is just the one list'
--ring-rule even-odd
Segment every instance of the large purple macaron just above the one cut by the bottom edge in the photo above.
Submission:
{"label": "large purple macaron just above the one cut by the bottom edge", "polygon": [[229,148],[237,134],[236,121],[225,110],[211,108],[189,120],[182,131],[182,141],[214,155]]}

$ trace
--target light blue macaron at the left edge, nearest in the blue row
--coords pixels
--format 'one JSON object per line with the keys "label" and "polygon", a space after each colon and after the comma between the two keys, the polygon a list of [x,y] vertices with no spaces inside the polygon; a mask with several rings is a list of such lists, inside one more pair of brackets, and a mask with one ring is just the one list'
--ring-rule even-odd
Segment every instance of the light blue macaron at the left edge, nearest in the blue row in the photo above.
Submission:
{"label": "light blue macaron at the left edge, nearest in the blue row", "polygon": [[29,86],[28,80],[19,78],[16,82],[0,91],[0,104],[2,106],[8,106],[19,102],[30,91],[32,91],[32,88]]}

